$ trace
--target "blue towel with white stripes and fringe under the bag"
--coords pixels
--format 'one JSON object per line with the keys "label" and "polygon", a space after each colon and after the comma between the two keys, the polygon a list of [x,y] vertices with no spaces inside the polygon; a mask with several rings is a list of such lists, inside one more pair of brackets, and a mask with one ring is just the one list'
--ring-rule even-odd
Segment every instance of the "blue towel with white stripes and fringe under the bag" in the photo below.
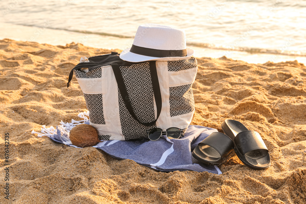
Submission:
{"label": "blue towel with white stripes and fringe under the bag", "polygon": [[[33,130],[32,134],[38,134],[39,137],[48,136],[57,143],[76,147],[70,142],[69,131],[78,124],[89,124],[88,115],[88,112],[79,113],[78,116],[83,120],[72,120],[71,123],[61,121],[61,125],[56,128],[52,126],[46,128],[43,125],[41,133]],[[140,165],[151,167],[161,172],[192,170],[221,174],[222,172],[218,166],[198,163],[191,153],[191,150],[212,132],[218,131],[214,128],[189,125],[185,136],[180,139],[169,139],[166,135],[162,135],[156,141],[149,140],[147,142],[145,139],[128,141],[105,140],[93,147],[103,150],[113,158],[131,159]]]}

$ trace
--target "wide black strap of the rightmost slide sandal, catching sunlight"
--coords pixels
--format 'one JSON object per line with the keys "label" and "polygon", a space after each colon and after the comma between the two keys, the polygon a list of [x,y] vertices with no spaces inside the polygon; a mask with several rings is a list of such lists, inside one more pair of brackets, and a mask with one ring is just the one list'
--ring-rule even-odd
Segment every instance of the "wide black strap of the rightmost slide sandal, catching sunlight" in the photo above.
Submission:
{"label": "wide black strap of the rightmost slide sandal, catching sunlight", "polygon": [[267,146],[263,142],[260,134],[253,130],[239,132],[236,135],[234,142],[242,155],[249,151],[258,149],[265,149],[268,151]]}

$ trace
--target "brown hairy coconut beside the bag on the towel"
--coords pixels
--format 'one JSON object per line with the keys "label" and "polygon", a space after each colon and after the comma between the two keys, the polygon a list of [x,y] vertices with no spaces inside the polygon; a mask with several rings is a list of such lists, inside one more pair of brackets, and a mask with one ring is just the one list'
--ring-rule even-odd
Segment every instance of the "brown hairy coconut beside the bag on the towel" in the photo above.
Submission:
{"label": "brown hairy coconut beside the bag on the towel", "polygon": [[100,142],[97,130],[88,124],[76,125],[70,130],[70,141],[76,147],[92,147]]}

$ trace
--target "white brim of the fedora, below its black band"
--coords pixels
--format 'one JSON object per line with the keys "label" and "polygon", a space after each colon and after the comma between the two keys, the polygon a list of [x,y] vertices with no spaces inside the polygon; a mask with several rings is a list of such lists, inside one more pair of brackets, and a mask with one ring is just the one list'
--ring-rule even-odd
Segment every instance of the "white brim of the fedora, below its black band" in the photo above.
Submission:
{"label": "white brim of the fedora, below its black band", "polygon": [[120,53],[120,58],[124,61],[129,61],[129,62],[142,62],[142,61],[150,61],[150,60],[158,60],[158,61],[179,61],[179,60],[186,60],[192,57],[194,54],[194,50],[192,50],[190,47],[186,47],[187,50],[187,56],[185,57],[150,57],[150,56],[145,56],[141,54],[136,54],[130,52],[131,48],[127,48],[123,50]]}

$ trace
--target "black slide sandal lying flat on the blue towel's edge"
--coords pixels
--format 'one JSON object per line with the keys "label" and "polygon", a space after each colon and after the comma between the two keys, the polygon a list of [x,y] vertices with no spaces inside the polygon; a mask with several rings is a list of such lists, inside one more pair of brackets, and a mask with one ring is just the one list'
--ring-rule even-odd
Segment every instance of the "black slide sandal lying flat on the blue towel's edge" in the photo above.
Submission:
{"label": "black slide sandal lying flat on the blue towel's edge", "polygon": [[208,165],[220,165],[235,154],[233,141],[221,132],[213,132],[192,151],[192,156]]}

